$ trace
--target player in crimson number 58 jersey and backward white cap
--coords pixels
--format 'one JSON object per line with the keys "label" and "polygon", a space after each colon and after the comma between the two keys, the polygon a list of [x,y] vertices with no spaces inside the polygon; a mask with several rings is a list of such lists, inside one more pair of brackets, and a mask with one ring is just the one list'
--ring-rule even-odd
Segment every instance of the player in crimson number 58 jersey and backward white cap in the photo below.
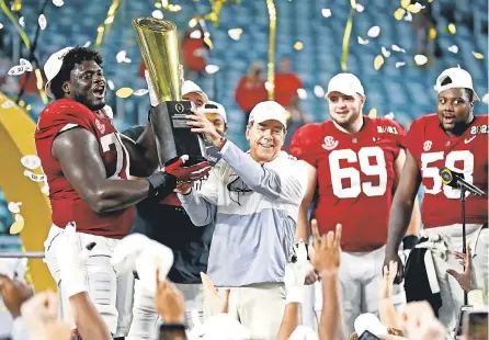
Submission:
{"label": "player in crimson number 58 jersey and backward white cap", "polygon": [[[433,263],[440,283],[441,321],[452,329],[463,305],[463,291],[450,268],[459,268],[453,251],[462,249],[460,190],[444,185],[439,174],[446,167],[465,180],[488,192],[488,115],[474,115],[474,91],[470,75],[460,68],[448,68],[436,79],[436,114],[416,120],[407,136],[407,160],[399,189],[389,215],[389,236],[385,263],[398,262],[397,282],[403,277],[397,247],[409,224],[414,196],[425,186],[421,208],[423,236],[431,242]],[[466,193],[466,235],[470,246],[477,284],[488,290],[488,201]]]}

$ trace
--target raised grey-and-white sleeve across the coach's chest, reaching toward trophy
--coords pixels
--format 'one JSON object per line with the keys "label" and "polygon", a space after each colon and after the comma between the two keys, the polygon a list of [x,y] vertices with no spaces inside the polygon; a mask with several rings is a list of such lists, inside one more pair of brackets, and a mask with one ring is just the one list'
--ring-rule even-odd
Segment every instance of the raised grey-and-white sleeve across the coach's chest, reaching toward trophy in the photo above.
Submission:
{"label": "raised grey-and-white sleeve across the coach's chest, reaching toward trophy", "polygon": [[294,169],[288,167],[283,167],[280,170],[271,169],[269,165],[258,163],[250,155],[229,140],[224,146],[221,154],[223,159],[254,192],[289,203],[303,200],[307,186],[307,173],[306,169],[300,169],[303,166],[299,162],[296,162],[297,166],[293,167]]}

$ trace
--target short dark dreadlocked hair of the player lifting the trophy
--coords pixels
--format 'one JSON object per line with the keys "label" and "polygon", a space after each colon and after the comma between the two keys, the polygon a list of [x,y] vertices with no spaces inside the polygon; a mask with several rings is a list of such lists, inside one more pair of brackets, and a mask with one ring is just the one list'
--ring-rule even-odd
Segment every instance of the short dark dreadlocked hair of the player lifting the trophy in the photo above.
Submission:
{"label": "short dark dreadlocked hair of the player lifting the trophy", "polygon": [[66,56],[62,58],[62,66],[59,70],[58,75],[53,78],[50,83],[50,90],[56,99],[61,99],[65,97],[65,92],[62,91],[62,83],[70,78],[70,73],[75,68],[75,65],[81,64],[82,61],[95,61],[99,65],[102,65],[103,60],[100,54],[93,48],[89,47],[80,47],[77,46],[73,49],[70,49]]}

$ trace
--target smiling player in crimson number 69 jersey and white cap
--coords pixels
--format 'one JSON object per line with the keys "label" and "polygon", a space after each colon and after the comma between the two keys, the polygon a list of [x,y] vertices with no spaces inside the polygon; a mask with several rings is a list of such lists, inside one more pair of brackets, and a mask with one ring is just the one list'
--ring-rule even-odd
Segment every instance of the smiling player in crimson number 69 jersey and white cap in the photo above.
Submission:
{"label": "smiling player in crimson number 69 jersey and white cap", "polygon": [[[387,217],[405,162],[405,132],[393,120],[362,114],[365,92],[352,73],[334,76],[326,97],[332,121],[298,129],[291,152],[306,160],[311,166],[309,171],[317,173],[318,197],[312,214],[319,231],[326,234],[333,231],[337,224],[343,226],[340,282],[346,330],[352,333],[360,314],[378,310]],[[307,207],[302,208],[304,215]],[[419,209],[412,214],[408,233],[416,235]],[[319,317],[322,298],[320,285],[316,286],[315,309]],[[406,301],[403,290],[397,286],[395,291],[396,305],[400,305]]]}

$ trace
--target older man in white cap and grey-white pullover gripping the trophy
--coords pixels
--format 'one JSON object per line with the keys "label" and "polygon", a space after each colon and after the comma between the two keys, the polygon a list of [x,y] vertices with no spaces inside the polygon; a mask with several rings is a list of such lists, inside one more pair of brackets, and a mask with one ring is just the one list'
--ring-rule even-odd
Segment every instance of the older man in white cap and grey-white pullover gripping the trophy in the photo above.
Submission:
{"label": "older man in white cap and grey-white pullover gripping the trophy", "polygon": [[197,193],[178,186],[179,199],[195,226],[215,222],[207,274],[218,287],[231,287],[229,314],[252,339],[276,339],[285,307],[284,272],[291,256],[307,172],[302,161],[281,151],[286,111],[262,102],[250,113],[243,152],[218,135],[203,116],[189,116],[220,151]]}

